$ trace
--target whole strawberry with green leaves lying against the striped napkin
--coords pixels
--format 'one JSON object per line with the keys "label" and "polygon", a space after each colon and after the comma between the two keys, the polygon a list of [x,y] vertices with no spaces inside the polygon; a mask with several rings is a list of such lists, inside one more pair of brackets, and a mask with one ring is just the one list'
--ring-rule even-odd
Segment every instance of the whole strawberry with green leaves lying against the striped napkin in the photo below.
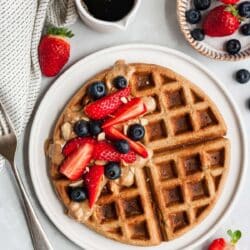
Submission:
{"label": "whole strawberry with green leaves lying against the striped napkin", "polygon": [[67,38],[73,33],[66,28],[48,28],[38,47],[39,63],[45,76],[57,75],[70,56],[70,44]]}

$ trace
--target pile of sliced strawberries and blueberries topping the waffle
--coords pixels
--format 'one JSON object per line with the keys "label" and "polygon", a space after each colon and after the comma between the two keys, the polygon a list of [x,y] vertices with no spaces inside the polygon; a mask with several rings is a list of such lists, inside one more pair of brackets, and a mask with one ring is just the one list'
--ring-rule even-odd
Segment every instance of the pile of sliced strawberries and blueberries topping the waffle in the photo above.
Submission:
{"label": "pile of sliced strawberries and blueberries topping the waffle", "polygon": [[74,202],[88,200],[90,208],[97,201],[105,179],[120,178],[125,164],[149,156],[140,142],[145,129],[138,118],[152,111],[149,105],[152,100],[132,97],[124,76],[114,77],[112,85],[110,91],[102,81],[89,86],[90,102],[82,110],[86,118],[74,122],[74,138],[66,140],[62,148],[64,161],[60,173],[71,181],[83,181],[83,186],[69,188],[69,198]]}

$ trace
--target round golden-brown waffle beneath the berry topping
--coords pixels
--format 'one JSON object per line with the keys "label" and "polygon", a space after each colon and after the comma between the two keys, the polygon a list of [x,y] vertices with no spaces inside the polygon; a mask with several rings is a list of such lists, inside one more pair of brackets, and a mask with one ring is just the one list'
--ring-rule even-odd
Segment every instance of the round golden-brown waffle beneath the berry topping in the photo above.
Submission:
{"label": "round golden-brown waffle beneath the berry topping", "polygon": [[[135,167],[131,186],[105,181],[91,216],[82,219],[86,202],[68,197],[72,183],[62,176],[61,127],[84,117],[86,89],[96,80],[110,81],[115,74],[129,79],[133,96],[151,96],[154,112],[144,118],[144,145],[153,157]],[[158,65],[116,65],[92,79],[75,94],[54,129],[50,175],[66,212],[97,233],[133,245],[151,246],[179,237],[211,211],[223,188],[230,156],[226,125],[215,104],[197,86]],[[75,137],[69,131],[68,137]],[[74,213],[72,213],[72,209]]]}

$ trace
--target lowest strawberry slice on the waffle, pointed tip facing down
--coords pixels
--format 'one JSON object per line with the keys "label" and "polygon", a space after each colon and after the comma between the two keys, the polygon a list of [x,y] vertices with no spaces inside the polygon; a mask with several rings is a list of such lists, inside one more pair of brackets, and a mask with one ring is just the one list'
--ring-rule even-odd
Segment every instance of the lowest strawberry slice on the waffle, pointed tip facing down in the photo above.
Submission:
{"label": "lowest strawberry slice on the waffle, pointed tip facing down", "polygon": [[100,185],[104,174],[104,167],[94,165],[89,172],[84,175],[84,183],[88,190],[89,207],[91,208],[100,194]]}

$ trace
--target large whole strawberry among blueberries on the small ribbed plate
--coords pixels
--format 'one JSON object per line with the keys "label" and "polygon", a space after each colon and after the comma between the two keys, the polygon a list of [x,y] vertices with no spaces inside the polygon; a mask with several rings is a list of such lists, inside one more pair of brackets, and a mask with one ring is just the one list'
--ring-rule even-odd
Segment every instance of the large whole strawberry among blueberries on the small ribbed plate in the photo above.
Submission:
{"label": "large whole strawberry among blueberries on the small ribbed plate", "polygon": [[228,36],[240,26],[238,10],[232,5],[220,5],[212,9],[203,22],[204,33],[208,36]]}

